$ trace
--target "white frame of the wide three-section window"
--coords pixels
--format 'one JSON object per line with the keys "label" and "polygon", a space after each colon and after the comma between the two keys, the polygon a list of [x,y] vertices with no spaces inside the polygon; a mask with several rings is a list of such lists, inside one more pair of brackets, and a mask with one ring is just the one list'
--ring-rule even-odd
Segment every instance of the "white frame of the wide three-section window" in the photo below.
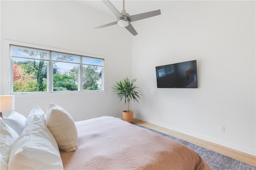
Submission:
{"label": "white frame of the wide three-section window", "polygon": [[[48,96],[49,94],[51,94],[50,96],[52,96],[53,94],[66,94],[69,93],[70,94],[85,94],[85,93],[94,93],[94,92],[100,92],[100,93],[106,93],[106,57],[105,56],[100,56],[100,55],[94,55],[94,54],[89,54],[89,53],[81,53],[81,52],[76,52],[76,51],[69,51],[69,50],[65,50],[65,49],[57,49],[57,48],[53,48],[53,47],[45,47],[45,46],[41,46],[41,45],[34,45],[34,44],[28,44],[28,43],[22,43],[22,42],[14,42],[14,41],[10,41],[10,40],[5,40],[5,55],[7,54],[8,51],[8,58],[9,58],[9,65],[10,65],[10,71],[9,71],[9,91],[10,94],[12,95],[23,95],[23,94],[29,94],[29,95],[46,95]],[[13,59],[12,57],[17,57],[13,55],[13,47],[19,47],[19,48],[24,48],[24,49],[36,49],[38,51],[49,51],[50,55],[49,55],[49,59],[44,59],[47,62],[47,91],[37,91],[37,92],[24,92],[24,93],[20,93],[20,92],[13,92]],[[79,60],[80,63],[77,62],[71,62],[71,63],[77,63],[78,66],[78,91],[53,91],[53,53],[61,53],[61,54],[67,54],[67,55],[74,55],[74,56],[79,56]],[[88,57],[88,58],[92,58],[92,59],[100,59],[102,60],[102,89],[101,90],[83,90],[82,89],[82,57]],[[20,58],[25,58],[26,57],[20,57]],[[27,58],[27,59],[31,59],[31,58]],[[40,60],[40,59],[38,59]],[[55,61],[55,60],[54,60]],[[61,61],[62,62],[62,61]],[[70,63],[70,62],[68,62]],[[24,95],[23,95],[24,96]]]}

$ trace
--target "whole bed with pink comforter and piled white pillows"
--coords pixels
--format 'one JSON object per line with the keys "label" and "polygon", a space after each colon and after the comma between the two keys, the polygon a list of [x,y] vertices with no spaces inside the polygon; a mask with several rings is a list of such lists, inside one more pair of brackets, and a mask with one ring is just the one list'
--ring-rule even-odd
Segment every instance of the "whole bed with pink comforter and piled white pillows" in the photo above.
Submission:
{"label": "whole bed with pink comforter and piled white pillows", "polygon": [[[56,127],[63,120],[67,125],[64,132],[70,130],[69,135],[63,135],[60,130],[63,127],[55,131],[52,129],[48,118],[54,118],[48,115],[48,111],[46,115],[42,114],[42,110],[40,114],[29,115],[26,128],[10,144],[9,169],[210,169],[196,152],[186,146],[119,118],[104,116],[78,122],[72,120],[73,126],[56,115],[58,119],[53,125]],[[1,129],[2,124],[1,120]],[[72,132],[72,128],[76,132]],[[59,134],[61,140],[56,136]],[[63,137],[68,144],[63,143]],[[2,165],[1,169],[4,169]]]}

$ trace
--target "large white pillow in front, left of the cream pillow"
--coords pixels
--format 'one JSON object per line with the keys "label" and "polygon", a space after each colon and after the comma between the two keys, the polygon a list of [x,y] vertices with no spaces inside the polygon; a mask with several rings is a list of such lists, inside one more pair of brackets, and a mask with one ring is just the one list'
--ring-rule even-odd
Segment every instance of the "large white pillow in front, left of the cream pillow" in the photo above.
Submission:
{"label": "large white pillow in front, left of the cream pillow", "polygon": [[10,151],[8,169],[63,169],[56,140],[36,115],[14,142]]}

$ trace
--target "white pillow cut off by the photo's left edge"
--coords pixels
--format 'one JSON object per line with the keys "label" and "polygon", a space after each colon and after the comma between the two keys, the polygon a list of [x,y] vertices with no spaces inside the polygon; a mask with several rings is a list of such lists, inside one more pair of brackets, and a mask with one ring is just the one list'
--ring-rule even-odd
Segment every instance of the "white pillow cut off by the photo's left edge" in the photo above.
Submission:
{"label": "white pillow cut off by the photo's left edge", "polygon": [[6,125],[2,119],[0,120],[0,131],[0,169],[7,170],[11,147],[19,135],[11,127]]}

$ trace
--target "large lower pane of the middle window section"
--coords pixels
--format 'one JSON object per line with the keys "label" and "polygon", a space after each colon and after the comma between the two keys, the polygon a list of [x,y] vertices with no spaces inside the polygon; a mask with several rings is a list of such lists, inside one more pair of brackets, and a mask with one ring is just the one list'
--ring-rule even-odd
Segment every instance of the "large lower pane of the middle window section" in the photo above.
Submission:
{"label": "large lower pane of the middle window section", "polygon": [[78,65],[74,63],[54,62],[53,91],[78,90]]}

